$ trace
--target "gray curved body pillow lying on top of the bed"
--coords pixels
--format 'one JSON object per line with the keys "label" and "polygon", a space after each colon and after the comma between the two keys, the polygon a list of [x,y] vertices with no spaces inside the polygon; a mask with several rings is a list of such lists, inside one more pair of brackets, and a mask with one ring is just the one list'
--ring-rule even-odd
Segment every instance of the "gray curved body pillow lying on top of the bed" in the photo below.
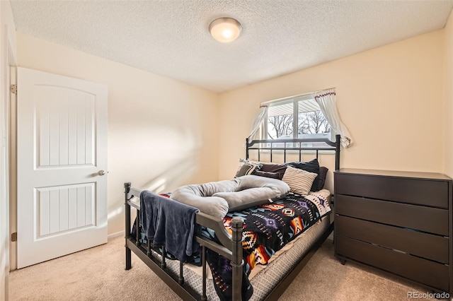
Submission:
{"label": "gray curved body pillow lying on top of the bed", "polygon": [[210,216],[224,218],[229,211],[269,203],[284,196],[289,186],[280,179],[246,175],[232,180],[179,187],[171,199],[198,208]]}

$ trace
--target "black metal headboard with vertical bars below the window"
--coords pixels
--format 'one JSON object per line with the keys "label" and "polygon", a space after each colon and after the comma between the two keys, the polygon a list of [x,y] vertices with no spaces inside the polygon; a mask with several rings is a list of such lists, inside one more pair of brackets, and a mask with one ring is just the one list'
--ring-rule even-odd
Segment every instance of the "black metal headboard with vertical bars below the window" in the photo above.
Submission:
{"label": "black metal headboard with vertical bars below the window", "polygon": [[[273,151],[283,152],[283,158],[286,162],[287,151],[299,152],[299,161],[302,161],[302,151],[316,151],[318,158],[319,151],[335,151],[335,170],[340,168],[340,135],[335,136],[336,141],[330,141],[328,138],[297,138],[297,139],[268,139],[252,140],[246,138],[246,159],[250,151],[258,151],[258,161],[260,152],[268,151],[270,153],[270,162],[273,162]],[[304,146],[306,143],[316,143],[316,146]]]}

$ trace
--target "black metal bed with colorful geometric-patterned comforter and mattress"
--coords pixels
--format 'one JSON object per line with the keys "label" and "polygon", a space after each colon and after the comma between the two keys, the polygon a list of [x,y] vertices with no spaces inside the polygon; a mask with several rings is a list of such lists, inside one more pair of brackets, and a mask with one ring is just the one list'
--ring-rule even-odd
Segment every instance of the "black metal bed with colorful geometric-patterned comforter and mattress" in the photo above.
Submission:
{"label": "black metal bed with colorful geometric-patterned comforter and mattress", "polygon": [[[264,160],[263,158],[268,163],[273,163],[276,158],[283,163],[302,163],[302,153],[306,151],[316,155],[316,160],[319,155],[331,156],[334,154],[335,170],[338,170],[340,164],[340,136],[338,135],[336,142],[326,138],[280,139],[279,141],[246,140],[246,158],[243,160],[246,164],[240,166],[238,172],[246,170],[249,173],[243,177],[240,175],[231,181],[240,183],[241,179],[249,176],[253,179],[274,177],[274,175],[264,175],[263,173],[257,175],[260,171],[259,168],[250,172],[247,163],[259,164]],[[297,158],[296,160],[294,160],[294,156]],[[251,157],[253,160],[250,160]],[[287,169],[297,167],[296,165],[290,166]],[[311,187],[310,190],[315,191],[313,188]],[[322,206],[328,206],[330,191],[326,191],[326,189],[310,192],[305,197],[289,191],[285,196],[273,198],[268,203],[253,203],[253,206],[248,208],[241,206],[237,211],[236,209],[228,211],[226,216],[223,216],[223,213],[219,216],[207,214],[206,211],[195,211],[193,224],[197,230],[193,239],[194,245],[196,243],[199,247],[190,258],[192,260],[196,257],[193,260],[197,261],[197,265],[200,266],[197,269],[190,267],[187,262],[171,260],[175,258],[167,252],[165,245],[154,247],[151,240],[147,240],[147,235],[144,234],[146,231],[142,227],[146,215],[143,215],[144,211],[140,211],[140,208],[145,208],[144,203],[139,199],[142,192],[141,189],[132,187],[131,183],[125,183],[126,270],[132,268],[131,256],[134,252],[183,300],[276,300],[333,230],[329,212],[321,212]],[[162,196],[154,196],[149,191],[147,193],[161,201],[158,198],[162,198]],[[168,199],[168,201],[170,200]],[[325,201],[327,204],[324,204]],[[166,201],[162,202],[166,203]],[[288,203],[289,205],[287,205]],[[283,237],[279,237],[280,244],[283,245],[283,241],[289,242],[281,249],[280,246],[262,247],[260,245],[258,249],[261,252],[257,252],[256,249],[251,251],[246,247],[251,240],[247,230],[250,230],[253,225],[256,228],[261,227],[259,221],[254,220],[252,216],[263,218],[262,215],[269,213],[275,220],[287,218],[294,214],[292,212],[294,203],[299,204],[296,208],[300,208],[306,216],[309,216],[308,220],[311,220],[312,225],[309,225],[309,222],[301,221],[300,225],[296,223],[289,230],[285,230],[286,232],[276,230],[278,235]],[[322,206],[319,206],[319,203]],[[275,208],[278,208],[278,211],[275,212],[284,214],[275,215],[273,211]],[[134,223],[132,223],[132,209],[137,211]],[[282,224],[289,224],[289,222],[282,222]],[[297,230],[298,227],[299,230]],[[268,240],[273,240],[275,244],[276,239],[272,238],[273,235],[270,235],[265,228],[263,232],[267,235]],[[293,239],[293,236],[297,239]],[[156,241],[156,237],[154,237],[154,241]],[[266,252],[268,256],[266,256]],[[256,259],[257,257],[258,259]],[[266,257],[265,260],[263,257]],[[256,261],[263,261],[263,265],[254,264],[253,262]],[[210,278],[210,274],[213,279]],[[224,287],[226,287],[225,293]]]}

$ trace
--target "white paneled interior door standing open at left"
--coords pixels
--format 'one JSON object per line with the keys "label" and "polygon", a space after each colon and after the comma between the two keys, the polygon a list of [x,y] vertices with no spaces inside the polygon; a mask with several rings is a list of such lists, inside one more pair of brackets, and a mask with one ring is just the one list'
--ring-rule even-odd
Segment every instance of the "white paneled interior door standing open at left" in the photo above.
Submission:
{"label": "white paneled interior door standing open at left", "polygon": [[107,86],[18,68],[18,268],[107,242]]}

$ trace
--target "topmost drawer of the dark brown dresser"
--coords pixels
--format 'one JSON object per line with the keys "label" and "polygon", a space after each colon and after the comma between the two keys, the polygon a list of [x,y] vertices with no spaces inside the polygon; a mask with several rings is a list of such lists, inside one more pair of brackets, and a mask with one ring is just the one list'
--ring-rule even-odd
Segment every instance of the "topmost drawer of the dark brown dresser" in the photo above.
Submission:
{"label": "topmost drawer of the dark brown dresser", "polygon": [[408,177],[336,173],[335,193],[448,208],[449,182]]}

